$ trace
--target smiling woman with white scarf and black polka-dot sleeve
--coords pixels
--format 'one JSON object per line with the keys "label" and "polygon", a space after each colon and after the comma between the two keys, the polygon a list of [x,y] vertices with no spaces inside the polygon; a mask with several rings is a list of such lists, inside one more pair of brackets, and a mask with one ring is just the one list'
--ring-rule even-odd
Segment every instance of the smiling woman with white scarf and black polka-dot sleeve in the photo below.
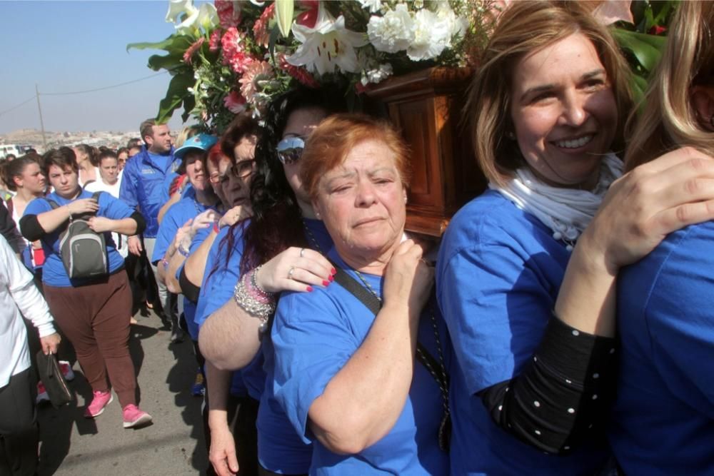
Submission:
{"label": "smiling woman with white scarf and black polka-dot sleeve", "polygon": [[713,214],[688,203],[710,198],[685,186],[707,177],[695,154],[617,180],[629,77],[587,2],[513,3],[481,58],[466,110],[491,189],[453,217],[436,271],[454,474],[591,474],[608,459],[618,269]]}

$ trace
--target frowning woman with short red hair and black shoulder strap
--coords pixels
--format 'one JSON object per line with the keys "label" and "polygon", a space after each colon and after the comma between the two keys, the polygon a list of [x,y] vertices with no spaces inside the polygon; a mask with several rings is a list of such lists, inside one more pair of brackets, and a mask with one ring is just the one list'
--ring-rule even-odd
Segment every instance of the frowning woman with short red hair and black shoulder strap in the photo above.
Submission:
{"label": "frowning woman with short red hair and black shoulder strap", "polygon": [[311,475],[448,474],[448,341],[433,268],[404,236],[409,160],[395,128],[354,114],[323,121],[303,153],[339,271],[281,296],[273,388],[313,443]]}

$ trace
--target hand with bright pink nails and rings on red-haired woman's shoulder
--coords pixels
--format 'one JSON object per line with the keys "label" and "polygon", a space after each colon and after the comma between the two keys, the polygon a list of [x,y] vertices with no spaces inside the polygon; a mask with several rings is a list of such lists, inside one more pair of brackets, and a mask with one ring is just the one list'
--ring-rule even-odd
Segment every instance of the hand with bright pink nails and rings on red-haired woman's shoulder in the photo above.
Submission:
{"label": "hand with bright pink nails and rings on red-haired woman's shoulder", "polygon": [[332,270],[332,264],[317,251],[293,246],[265,263],[258,270],[256,283],[268,293],[310,291],[313,286],[329,285]]}

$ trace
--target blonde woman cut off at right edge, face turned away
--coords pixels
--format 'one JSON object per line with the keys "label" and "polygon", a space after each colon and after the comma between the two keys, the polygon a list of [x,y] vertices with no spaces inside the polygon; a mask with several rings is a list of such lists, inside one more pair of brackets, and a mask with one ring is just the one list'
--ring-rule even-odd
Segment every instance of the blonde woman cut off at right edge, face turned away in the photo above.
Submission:
{"label": "blonde woman cut off at right edge, face turned away", "polygon": [[[626,168],[681,146],[714,155],[712,26],[714,3],[678,6]],[[713,243],[714,223],[689,226],[620,274],[622,351],[609,436],[625,474],[714,473]]]}

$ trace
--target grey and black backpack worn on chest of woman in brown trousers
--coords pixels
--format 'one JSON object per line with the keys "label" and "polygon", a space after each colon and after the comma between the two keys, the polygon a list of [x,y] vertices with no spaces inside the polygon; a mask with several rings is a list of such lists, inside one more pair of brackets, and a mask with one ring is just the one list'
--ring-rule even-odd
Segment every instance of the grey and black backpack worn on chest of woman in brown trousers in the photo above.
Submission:
{"label": "grey and black backpack worn on chest of woman in brown trousers", "polygon": [[[99,202],[101,192],[94,192],[91,198]],[[46,198],[54,210],[59,208],[56,201]],[[70,216],[69,224],[59,233],[59,253],[64,269],[70,279],[99,278],[109,274],[104,233],[96,233],[89,228],[89,218],[95,213]]]}

